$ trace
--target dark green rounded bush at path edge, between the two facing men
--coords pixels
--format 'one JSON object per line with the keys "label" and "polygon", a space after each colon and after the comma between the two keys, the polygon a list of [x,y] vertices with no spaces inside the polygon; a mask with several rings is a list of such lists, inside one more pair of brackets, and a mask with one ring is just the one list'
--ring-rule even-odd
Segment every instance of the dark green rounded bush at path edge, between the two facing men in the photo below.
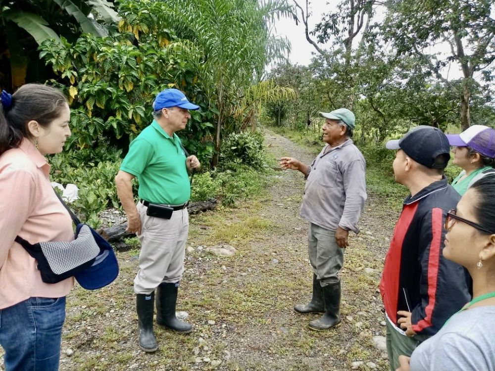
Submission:
{"label": "dark green rounded bush at path edge, between the two facing men", "polygon": [[247,165],[262,170],[265,164],[263,135],[259,132],[232,133],[224,139],[221,150],[221,167],[235,170]]}

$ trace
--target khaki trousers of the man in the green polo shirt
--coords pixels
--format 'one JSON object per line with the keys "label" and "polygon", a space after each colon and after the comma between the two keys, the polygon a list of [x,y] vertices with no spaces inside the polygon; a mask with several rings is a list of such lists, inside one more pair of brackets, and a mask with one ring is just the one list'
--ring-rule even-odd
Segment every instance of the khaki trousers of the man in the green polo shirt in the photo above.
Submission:
{"label": "khaki trousers of the man in the green polo shirt", "polygon": [[150,294],[162,282],[179,282],[184,274],[184,256],[189,232],[187,208],[170,219],[146,215],[148,207],[137,205],[141,217],[139,272],[134,278],[136,294]]}

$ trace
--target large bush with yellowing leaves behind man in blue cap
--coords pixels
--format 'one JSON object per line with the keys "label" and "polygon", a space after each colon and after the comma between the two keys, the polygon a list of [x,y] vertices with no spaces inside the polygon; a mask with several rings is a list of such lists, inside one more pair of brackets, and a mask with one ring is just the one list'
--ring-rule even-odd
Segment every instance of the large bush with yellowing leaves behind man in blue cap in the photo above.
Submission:
{"label": "large bush with yellowing leaves behind man in blue cap", "polygon": [[100,139],[105,137],[126,149],[151,123],[156,93],[174,87],[201,108],[192,112],[188,127],[179,136],[201,162],[209,162],[214,153],[210,139],[218,110],[198,81],[197,46],[177,40],[163,27],[146,28],[147,32],[131,43],[138,29],[141,31],[135,23],[149,14],[137,7],[128,10],[121,14],[120,31],[111,37],[86,34],[72,44],[62,38],[61,45],[46,40],[39,48],[41,58],[58,77],[51,84],[67,95],[72,108],[73,135],[68,147],[104,147]]}

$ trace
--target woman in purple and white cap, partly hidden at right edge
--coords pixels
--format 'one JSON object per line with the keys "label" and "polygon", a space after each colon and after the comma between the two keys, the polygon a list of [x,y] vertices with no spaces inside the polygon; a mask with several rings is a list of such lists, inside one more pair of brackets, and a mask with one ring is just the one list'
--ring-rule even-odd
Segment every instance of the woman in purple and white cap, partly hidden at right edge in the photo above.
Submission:
{"label": "woman in purple and white cap, partly hidden at right edge", "polygon": [[454,146],[452,162],[462,168],[452,186],[463,195],[474,177],[495,167],[495,130],[473,125],[461,134],[447,134],[447,139]]}

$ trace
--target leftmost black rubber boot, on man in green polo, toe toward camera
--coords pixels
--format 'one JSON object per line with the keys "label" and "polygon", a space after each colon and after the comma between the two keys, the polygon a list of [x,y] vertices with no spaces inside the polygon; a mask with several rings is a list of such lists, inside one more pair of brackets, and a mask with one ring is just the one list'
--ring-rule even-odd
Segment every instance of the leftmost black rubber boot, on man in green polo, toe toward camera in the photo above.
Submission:
{"label": "leftmost black rubber boot, on man in green polo, toe toward camera", "polygon": [[139,347],[145,352],[154,352],[158,349],[156,337],[153,333],[153,302],[154,292],[148,295],[136,294]]}

